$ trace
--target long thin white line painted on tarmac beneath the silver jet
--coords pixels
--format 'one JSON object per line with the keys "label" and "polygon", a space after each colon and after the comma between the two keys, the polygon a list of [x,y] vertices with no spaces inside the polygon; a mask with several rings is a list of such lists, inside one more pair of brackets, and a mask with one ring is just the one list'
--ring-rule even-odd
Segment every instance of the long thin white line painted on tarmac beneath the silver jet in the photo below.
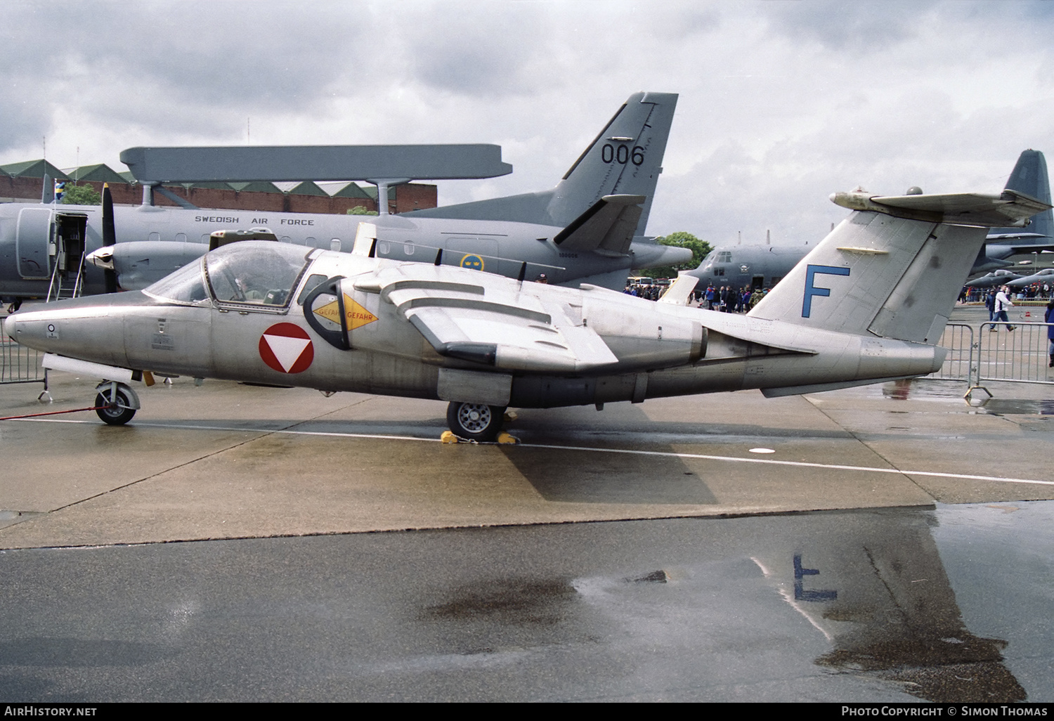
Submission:
{"label": "long thin white line painted on tarmac beneath the silver jet", "polygon": [[[67,421],[61,418],[23,418],[30,423],[81,423],[98,425],[96,421]],[[287,435],[319,435],[339,439],[371,439],[382,441],[421,441],[425,443],[442,443],[440,439],[422,439],[416,435],[384,435],[380,433],[340,433],[335,431],[296,431],[273,428],[237,428],[234,426],[200,426],[171,423],[137,423],[138,428],[171,428],[187,430],[235,431],[241,433],[285,433]],[[508,448],[545,448],[549,450],[583,451],[588,453],[623,453],[626,455],[650,455],[670,459],[696,459],[700,461],[719,461],[722,463],[760,463],[769,466],[792,466],[795,468],[825,468],[827,470],[864,471],[868,473],[895,473],[898,475],[926,475],[939,479],[960,479],[962,481],[991,481],[993,483],[1027,483],[1038,486],[1054,486],[1054,481],[1037,481],[1035,479],[1008,479],[999,475],[971,475],[968,473],[940,473],[937,471],[901,470],[899,468],[875,468],[872,466],[845,466],[834,463],[807,463],[805,461],[777,461],[775,459],[748,459],[735,455],[709,455],[706,453],[676,453],[674,451],[631,450],[627,448],[589,448],[586,446],[551,446],[545,444],[519,443]]]}

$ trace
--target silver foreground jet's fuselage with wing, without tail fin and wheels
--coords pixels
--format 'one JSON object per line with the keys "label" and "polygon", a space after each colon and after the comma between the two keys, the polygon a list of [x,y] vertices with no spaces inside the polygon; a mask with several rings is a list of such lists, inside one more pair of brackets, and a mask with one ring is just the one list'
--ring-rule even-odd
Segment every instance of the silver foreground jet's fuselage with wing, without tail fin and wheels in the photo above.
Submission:
{"label": "silver foreground jet's fuselage with wing, without tail fin and wheels", "polygon": [[[289,267],[261,269],[268,247]],[[23,310],[4,332],[159,374],[536,408],[855,385],[930,373],[944,355],[591,286],[292,250],[236,243],[145,292]]]}

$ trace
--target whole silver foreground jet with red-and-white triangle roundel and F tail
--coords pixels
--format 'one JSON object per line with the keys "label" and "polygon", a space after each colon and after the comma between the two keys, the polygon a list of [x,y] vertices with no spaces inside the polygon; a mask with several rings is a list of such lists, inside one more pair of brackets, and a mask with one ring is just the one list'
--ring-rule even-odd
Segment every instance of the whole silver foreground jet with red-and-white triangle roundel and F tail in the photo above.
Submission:
{"label": "whole silver foreground jet with red-and-white triangle roundel and F tail", "polygon": [[[1050,208],[1014,191],[832,199],[852,214],[745,316],[247,241],[143,291],[15,313],[4,330],[46,367],[104,378],[96,405],[114,425],[139,407],[126,384],[153,371],[440,398],[456,435],[490,441],[508,406],[778,396],[934,372],[984,228]],[[681,282],[667,296],[686,297]]]}

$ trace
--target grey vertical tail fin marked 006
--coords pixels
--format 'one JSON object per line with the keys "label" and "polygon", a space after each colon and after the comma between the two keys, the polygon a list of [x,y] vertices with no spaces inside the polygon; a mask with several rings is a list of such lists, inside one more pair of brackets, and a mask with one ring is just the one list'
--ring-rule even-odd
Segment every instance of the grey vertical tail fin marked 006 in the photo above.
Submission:
{"label": "grey vertical tail fin marked 006", "polygon": [[633,234],[644,235],[676,106],[675,93],[629,96],[551,190],[406,215],[567,227],[604,196],[643,195],[644,208]]}

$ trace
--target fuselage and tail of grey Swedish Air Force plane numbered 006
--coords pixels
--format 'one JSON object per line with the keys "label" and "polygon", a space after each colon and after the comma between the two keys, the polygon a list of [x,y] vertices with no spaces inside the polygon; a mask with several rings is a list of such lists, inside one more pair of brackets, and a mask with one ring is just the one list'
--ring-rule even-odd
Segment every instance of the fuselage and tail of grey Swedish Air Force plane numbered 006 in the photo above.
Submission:
{"label": "fuselage and tail of grey Swedish Air Force plane numbered 006", "polygon": [[[676,104],[677,95],[670,93],[630,96],[549,191],[362,222],[363,216],[202,211],[149,202],[138,208],[111,204],[111,210],[105,203],[5,203],[0,206],[0,297],[47,296],[56,268],[75,273],[82,255],[87,258],[82,294],[142,289],[202,255],[214,231],[252,228],[270,229],[293,245],[354,248],[358,254],[396,260],[433,262],[442,250],[444,265],[512,277],[526,261],[530,279],[544,274],[551,284],[622,289],[630,268],[676,265],[690,257],[684,248],[633,241],[644,233]],[[130,164],[142,162],[151,150],[171,155],[201,149],[130,149],[121,157]],[[109,236],[108,223],[113,227]]]}

